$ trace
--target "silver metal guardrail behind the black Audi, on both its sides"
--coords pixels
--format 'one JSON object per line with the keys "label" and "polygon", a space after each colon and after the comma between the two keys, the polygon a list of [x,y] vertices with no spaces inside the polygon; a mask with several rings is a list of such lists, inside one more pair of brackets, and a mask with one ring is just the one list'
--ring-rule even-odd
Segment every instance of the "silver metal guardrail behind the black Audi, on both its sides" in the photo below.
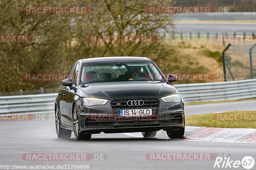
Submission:
{"label": "silver metal guardrail behind the black Audi, on both its sides", "polygon": [[[256,79],[177,84],[185,103],[224,101],[256,97]],[[54,101],[57,93],[1,96],[0,114],[29,113],[29,114],[54,114]]]}

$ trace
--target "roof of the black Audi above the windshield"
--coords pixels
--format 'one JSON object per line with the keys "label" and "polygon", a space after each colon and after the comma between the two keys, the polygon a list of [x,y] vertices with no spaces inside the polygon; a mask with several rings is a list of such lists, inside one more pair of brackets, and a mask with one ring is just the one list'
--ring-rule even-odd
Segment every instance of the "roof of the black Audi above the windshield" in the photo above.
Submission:
{"label": "roof of the black Audi above the windshield", "polygon": [[146,60],[146,61],[151,61],[147,57],[129,57],[129,56],[95,57],[95,58],[88,58],[88,59],[82,59],[82,60],[83,60],[83,63],[98,62],[98,61],[124,61],[124,60]]}

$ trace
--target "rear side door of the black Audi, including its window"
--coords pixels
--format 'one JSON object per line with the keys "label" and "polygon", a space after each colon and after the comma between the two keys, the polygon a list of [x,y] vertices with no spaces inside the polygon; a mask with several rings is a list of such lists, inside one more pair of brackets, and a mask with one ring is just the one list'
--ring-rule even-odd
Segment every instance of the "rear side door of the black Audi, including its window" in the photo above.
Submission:
{"label": "rear side door of the black Audi, including its window", "polygon": [[[72,77],[72,74],[73,74],[73,72],[74,72],[74,69],[75,69],[75,66],[76,66],[76,64],[74,64],[71,68],[70,68],[70,70],[69,70],[69,72],[68,72],[68,74],[67,74],[67,76],[66,76],[66,79],[67,78],[71,78]],[[69,117],[67,117],[66,116],[66,113],[65,113],[65,108],[67,107],[66,105],[68,105],[67,104],[67,101],[66,101],[66,94],[67,94],[67,87],[66,86],[60,86],[60,89],[59,89],[59,99],[60,99],[60,117],[61,117],[61,123],[62,124],[66,124],[66,125],[69,125],[70,123],[70,118]]]}

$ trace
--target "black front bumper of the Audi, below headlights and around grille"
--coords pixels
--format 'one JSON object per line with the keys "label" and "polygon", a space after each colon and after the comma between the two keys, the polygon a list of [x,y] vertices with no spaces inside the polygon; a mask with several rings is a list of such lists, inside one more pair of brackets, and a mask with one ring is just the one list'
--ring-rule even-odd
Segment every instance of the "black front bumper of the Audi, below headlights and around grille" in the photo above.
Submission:
{"label": "black front bumper of the Audi, below headlights and around grille", "polygon": [[134,119],[120,123],[110,102],[103,106],[96,105],[84,107],[80,112],[80,131],[88,134],[95,133],[124,133],[141,131],[169,131],[179,130],[184,127],[184,105],[183,103],[165,103],[159,100],[159,108],[154,116],[148,118]]}

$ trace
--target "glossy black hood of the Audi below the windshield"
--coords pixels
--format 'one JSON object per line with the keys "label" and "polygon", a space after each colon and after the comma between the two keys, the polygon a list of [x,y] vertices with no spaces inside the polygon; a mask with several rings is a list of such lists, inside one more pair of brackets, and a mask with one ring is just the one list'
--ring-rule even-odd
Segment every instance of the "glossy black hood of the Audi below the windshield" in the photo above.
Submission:
{"label": "glossy black hood of the Audi below the windshield", "polygon": [[163,97],[175,93],[171,84],[161,81],[122,81],[90,83],[79,86],[88,96],[103,99]]}

